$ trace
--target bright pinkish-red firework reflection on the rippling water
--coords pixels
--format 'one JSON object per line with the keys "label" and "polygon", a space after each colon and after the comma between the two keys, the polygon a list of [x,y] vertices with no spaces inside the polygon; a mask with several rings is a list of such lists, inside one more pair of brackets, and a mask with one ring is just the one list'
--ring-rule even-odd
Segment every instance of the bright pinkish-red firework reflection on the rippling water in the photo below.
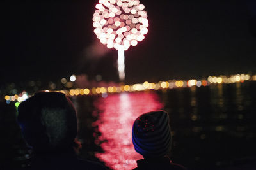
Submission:
{"label": "bright pinkish-red firework reflection on the rippling water", "polygon": [[132,145],[132,124],[134,120],[148,111],[162,108],[154,92],[111,94],[100,98],[95,106],[102,111],[95,125],[102,133],[100,140],[107,140],[101,147],[104,153],[96,157],[104,161],[111,169],[133,169],[136,160],[142,156],[135,152]]}

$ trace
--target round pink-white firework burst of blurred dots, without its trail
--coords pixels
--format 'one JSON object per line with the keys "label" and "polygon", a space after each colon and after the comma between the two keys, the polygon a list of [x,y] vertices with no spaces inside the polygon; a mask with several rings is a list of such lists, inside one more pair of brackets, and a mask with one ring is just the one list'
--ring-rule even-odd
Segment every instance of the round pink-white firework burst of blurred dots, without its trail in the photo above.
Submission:
{"label": "round pink-white firework burst of blurred dots, without its trail", "polygon": [[138,0],[100,0],[93,14],[94,33],[108,48],[136,46],[148,32],[145,6]]}

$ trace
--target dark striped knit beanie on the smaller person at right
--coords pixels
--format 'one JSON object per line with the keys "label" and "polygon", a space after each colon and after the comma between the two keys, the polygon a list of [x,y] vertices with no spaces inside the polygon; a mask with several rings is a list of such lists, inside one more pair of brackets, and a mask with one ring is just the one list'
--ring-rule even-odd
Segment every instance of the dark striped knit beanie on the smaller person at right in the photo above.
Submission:
{"label": "dark striped knit beanie on the smaller person at right", "polygon": [[132,126],[132,142],[143,157],[162,157],[170,151],[171,129],[166,111],[140,115]]}

